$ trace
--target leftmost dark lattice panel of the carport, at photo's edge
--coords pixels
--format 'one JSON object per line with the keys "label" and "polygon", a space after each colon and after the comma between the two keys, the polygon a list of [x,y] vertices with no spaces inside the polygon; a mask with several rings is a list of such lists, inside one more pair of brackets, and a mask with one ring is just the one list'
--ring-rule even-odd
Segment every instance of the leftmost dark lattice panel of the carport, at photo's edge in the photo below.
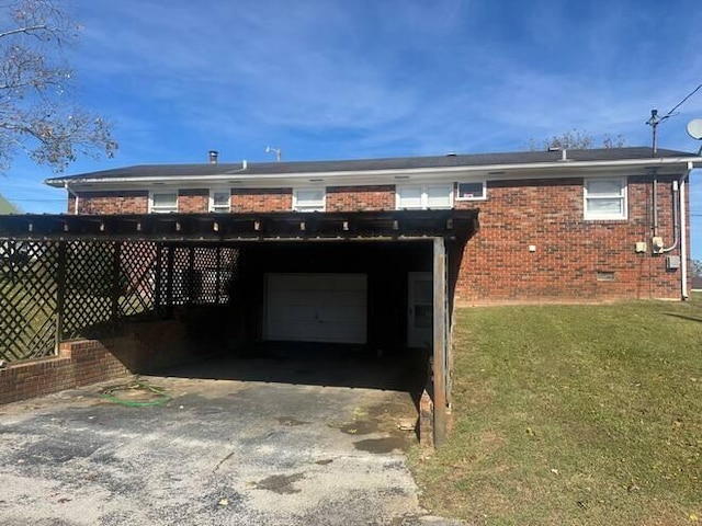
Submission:
{"label": "leftmost dark lattice panel of the carport, at photo's edge", "polygon": [[0,359],[54,353],[57,275],[56,244],[0,241]]}

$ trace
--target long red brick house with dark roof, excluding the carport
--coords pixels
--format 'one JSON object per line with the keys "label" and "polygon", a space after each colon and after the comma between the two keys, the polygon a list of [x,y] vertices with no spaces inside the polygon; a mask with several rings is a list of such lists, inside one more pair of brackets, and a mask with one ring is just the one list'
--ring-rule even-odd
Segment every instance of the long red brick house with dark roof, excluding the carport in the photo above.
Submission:
{"label": "long red brick house with dark roof, excluding the carport", "polygon": [[47,184],[69,214],[476,209],[460,304],[687,296],[686,186],[699,157],[613,148],[137,165]]}

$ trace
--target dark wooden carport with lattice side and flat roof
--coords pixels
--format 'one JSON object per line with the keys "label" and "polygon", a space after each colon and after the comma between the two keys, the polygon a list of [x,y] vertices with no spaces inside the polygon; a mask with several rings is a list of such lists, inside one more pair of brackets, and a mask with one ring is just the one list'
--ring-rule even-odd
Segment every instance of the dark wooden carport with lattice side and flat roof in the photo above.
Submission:
{"label": "dark wooden carport with lattice side and flat roof", "polygon": [[441,442],[451,404],[453,289],[477,216],[2,216],[3,279],[26,289],[5,296],[39,298],[43,321],[29,323],[35,334],[27,336],[27,323],[14,321],[21,301],[0,301],[0,322],[14,328],[0,352],[20,355],[19,347],[29,346],[31,357],[49,355],[65,340],[100,339],[115,323],[170,319],[196,325],[201,344],[207,336],[224,340],[234,354],[293,342],[287,352],[429,363]]}

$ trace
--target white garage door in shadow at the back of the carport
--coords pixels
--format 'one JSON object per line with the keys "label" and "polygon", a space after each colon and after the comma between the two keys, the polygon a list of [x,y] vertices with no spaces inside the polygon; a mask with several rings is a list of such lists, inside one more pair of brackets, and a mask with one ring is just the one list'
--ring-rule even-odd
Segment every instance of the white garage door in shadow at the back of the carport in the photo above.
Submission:
{"label": "white garage door in shadow at the back of the carport", "polygon": [[264,338],[366,343],[365,274],[268,274]]}

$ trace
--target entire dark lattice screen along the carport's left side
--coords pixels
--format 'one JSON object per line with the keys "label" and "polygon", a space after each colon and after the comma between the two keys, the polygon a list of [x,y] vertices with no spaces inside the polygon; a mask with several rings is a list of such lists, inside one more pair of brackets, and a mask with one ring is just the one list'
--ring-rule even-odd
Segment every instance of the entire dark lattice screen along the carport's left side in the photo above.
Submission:
{"label": "entire dark lattice screen along the carport's left side", "polygon": [[228,305],[238,260],[229,247],[0,241],[0,359],[50,355],[58,340],[174,305]]}

